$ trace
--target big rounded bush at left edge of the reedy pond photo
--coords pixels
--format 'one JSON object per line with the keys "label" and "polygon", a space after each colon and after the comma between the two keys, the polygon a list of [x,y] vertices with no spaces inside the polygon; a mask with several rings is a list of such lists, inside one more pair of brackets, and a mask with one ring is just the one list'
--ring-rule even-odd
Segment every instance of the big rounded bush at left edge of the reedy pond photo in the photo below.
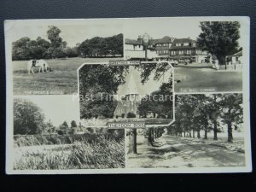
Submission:
{"label": "big rounded bush at left edge of the reedy pond photo", "polygon": [[42,110],[33,102],[15,98],[14,134],[40,134],[44,129],[44,113],[42,113]]}

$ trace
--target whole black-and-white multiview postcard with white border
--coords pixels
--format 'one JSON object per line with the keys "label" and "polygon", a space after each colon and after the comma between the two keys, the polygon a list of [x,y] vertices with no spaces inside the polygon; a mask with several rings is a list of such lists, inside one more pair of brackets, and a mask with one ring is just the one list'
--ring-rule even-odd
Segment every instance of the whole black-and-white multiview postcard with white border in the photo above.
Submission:
{"label": "whole black-and-white multiview postcard with white border", "polygon": [[248,17],[4,31],[8,174],[252,172]]}

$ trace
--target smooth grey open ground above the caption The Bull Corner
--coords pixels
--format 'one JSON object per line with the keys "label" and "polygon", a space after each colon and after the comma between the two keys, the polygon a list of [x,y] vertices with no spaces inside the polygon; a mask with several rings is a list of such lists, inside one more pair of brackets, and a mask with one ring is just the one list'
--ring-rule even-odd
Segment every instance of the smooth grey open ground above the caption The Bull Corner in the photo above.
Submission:
{"label": "smooth grey open ground above the caption The Bull Corner", "polygon": [[212,68],[175,67],[174,77],[182,77],[175,84],[175,92],[241,91],[241,71],[216,71]]}

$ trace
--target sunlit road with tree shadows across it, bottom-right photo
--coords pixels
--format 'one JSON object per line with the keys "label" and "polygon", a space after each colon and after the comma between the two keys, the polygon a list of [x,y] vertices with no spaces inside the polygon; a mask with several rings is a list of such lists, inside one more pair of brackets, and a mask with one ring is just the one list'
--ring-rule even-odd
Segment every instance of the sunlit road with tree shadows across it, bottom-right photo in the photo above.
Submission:
{"label": "sunlit road with tree shadows across it, bottom-right photo", "polygon": [[138,154],[128,154],[128,167],[245,166],[244,154],[207,143],[168,135],[158,139],[158,147],[148,146],[141,136],[137,141]]}

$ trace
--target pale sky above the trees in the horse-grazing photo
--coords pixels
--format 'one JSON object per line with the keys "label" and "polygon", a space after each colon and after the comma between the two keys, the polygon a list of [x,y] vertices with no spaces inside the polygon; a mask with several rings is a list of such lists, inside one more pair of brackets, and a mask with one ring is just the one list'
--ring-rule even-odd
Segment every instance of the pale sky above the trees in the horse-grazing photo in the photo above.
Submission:
{"label": "pale sky above the trees in the horse-grazing photo", "polygon": [[123,32],[123,26],[119,23],[92,22],[90,20],[42,20],[27,21],[17,20],[9,30],[9,36],[16,41],[23,37],[36,39],[38,37],[47,38],[49,26],[57,26],[61,29],[60,37],[67,42],[67,46],[73,47],[77,43],[82,43],[87,38],[96,36],[106,38]]}

